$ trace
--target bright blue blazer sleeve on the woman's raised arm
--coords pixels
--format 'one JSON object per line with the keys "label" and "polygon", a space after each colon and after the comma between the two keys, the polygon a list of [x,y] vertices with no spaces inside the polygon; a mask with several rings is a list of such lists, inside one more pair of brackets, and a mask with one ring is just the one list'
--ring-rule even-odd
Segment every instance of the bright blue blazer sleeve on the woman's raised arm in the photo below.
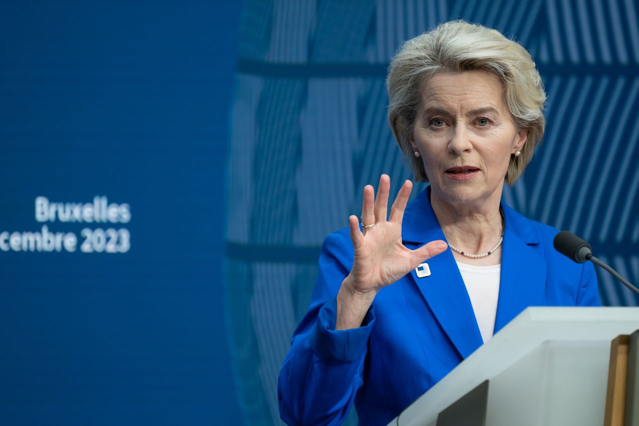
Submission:
{"label": "bright blue blazer sleeve on the woman's raised arm", "polygon": [[280,415],[289,425],[339,425],[362,386],[367,342],[375,322],[371,306],[356,329],[335,331],[342,281],[350,272],[353,246],[332,233],[319,255],[319,275],[309,311],[296,328],[278,381]]}

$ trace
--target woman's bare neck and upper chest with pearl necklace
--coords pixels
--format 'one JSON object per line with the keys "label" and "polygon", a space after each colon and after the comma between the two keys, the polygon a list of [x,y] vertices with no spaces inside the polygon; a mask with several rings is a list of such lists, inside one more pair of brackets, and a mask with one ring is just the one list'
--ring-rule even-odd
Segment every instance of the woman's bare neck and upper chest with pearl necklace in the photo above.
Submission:
{"label": "woman's bare neck and upper chest with pearl necklace", "polygon": [[[431,190],[431,206],[442,226],[450,245],[479,255],[495,248],[502,237],[503,222],[499,212],[501,191],[495,191],[488,199],[473,203],[450,203]],[[501,246],[489,256],[469,258],[453,251],[458,262],[473,265],[497,265],[501,263]]]}

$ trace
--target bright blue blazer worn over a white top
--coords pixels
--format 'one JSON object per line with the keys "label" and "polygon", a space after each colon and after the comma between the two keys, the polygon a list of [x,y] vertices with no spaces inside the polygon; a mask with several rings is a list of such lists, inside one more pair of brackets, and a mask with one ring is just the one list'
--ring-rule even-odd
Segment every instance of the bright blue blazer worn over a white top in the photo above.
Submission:
{"label": "bright blue blazer worn over a white top", "polygon": [[[598,306],[590,262],[553,248],[557,230],[502,202],[505,230],[495,333],[527,306]],[[429,189],[408,203],[408,248],[446,240]],[[335,296],[353,265],[348,228],[328,235],[319,255],[311,306],[295,330],[279,376],[282,420],[339,425],[355,402],[364,425],[386,425],[482,345],[470,298],[450,249],[382,288],[357,329],[335,331]]]}

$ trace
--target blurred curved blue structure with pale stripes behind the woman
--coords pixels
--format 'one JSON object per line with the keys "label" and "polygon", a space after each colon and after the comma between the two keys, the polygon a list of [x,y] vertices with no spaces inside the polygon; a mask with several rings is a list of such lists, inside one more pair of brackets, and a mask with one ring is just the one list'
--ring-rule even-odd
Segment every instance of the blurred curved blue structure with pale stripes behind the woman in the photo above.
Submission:
{"label": "blurred curved blue structure with pale stripes behind the woman", "polygon": [[[323,239],[348,225],[362,188],[381,173],[390,175],[391,192],[411,177],[387,125],[384,81],[401,43],[439,22],[463,18],[514,36],[544,79],[546,139],[504,200],[598,243],[602,258],[638,281],[639,257],[629,253],[638,251],[639,175],[628,162],[639,157],[639,128],[628,116],[638,106],[636,8],[578,3],[245,3],[227,168],[225,306],[247,424],[281,423],[277,377],[307,310]],[[621,44],[615,26],[627,35]],[[594,226],[594,217],[603,223]],[[604,304],[637,304],[610,278],[599,280]]]}

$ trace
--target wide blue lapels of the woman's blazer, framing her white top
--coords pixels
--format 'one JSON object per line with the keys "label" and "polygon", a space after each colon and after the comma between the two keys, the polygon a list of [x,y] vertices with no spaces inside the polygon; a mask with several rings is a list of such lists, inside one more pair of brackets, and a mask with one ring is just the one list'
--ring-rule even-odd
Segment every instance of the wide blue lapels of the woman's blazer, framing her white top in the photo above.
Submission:
{"label": "wide blue lapels of the woman's blazer, framing her white top", "polygon": [[[539,250],[541,238],[534,222],[512,210],[503,200],[501,206],[505,229],[495,333],[527,306],[543,306],[546,283],[546,260],[538,254],[543,250]],[[430,187],[406,206],[402,239],[404,245],[412,249],[429,241],[446,241],[431,207]],[[466,358],[483,341],[455,258],[447,249],[426,263],[430,276],[418,278],[415,270],[410,276],[459,354]]]}

